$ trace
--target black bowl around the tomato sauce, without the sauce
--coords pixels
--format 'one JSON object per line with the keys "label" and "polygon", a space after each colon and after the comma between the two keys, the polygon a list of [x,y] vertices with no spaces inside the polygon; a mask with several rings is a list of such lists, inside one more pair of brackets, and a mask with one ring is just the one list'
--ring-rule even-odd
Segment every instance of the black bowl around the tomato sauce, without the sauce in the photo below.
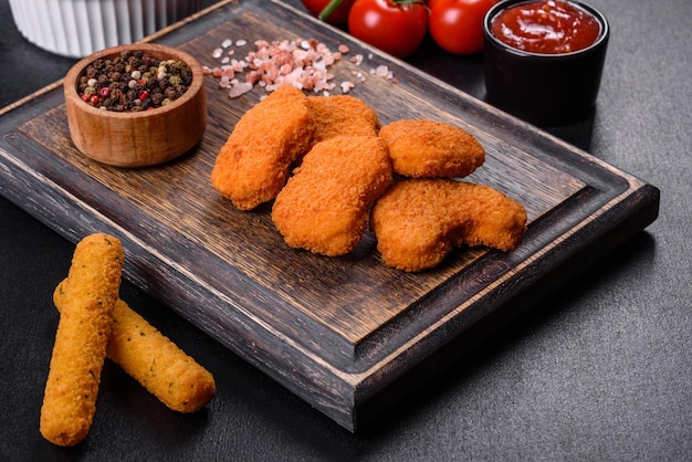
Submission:
{"label": "black bowl around the tomato sauce, without the sauce", "polygon": [[504,9],[526,2],[504,0],[485,15],[486,101],[536,125],[562,125],[589,116],[598,96],[610,36],[606,17],[588,4],[569,0],[600,22],[596,42],[572,53],[532,53],[505,44],[491,29],[493,19]]}

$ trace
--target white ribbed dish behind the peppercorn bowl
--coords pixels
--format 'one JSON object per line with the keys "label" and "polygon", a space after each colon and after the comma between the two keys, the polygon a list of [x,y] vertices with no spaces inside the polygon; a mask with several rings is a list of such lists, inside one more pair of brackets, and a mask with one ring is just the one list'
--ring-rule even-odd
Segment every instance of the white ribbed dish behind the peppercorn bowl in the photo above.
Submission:
{"label": "white ribbed dish behind the peppercorn bowl", "polygon": [[201,9],[201,0],[9,0],[31,43],[70,57],[141,40]]}

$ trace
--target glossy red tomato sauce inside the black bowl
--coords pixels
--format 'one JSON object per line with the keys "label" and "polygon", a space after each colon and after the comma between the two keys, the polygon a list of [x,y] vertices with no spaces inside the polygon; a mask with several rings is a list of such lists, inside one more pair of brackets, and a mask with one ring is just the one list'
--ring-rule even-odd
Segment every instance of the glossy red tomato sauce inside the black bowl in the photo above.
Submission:
{"label": "glossy red tomato sauce inside the black bowl", "polygon": [[596,17],[567,1],[539,0],[514,4],[493,18],[491,31],[507,45],[532,53],[572,53],[598,40]]}

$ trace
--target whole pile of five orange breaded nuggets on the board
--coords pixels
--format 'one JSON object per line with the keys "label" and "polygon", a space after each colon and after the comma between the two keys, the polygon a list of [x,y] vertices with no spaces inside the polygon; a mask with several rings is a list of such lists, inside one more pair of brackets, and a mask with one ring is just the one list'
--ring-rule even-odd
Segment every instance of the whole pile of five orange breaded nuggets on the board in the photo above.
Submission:
{"label": "whole pile of five orange breaded nuggets on the board", "polygon": [[240,210],[273,200],[272,221],[292,248],[344,255],[369,227],[385,264],[419,272],[464,244],[508,251],[521,243],[524,207],[460,180],[484,160],[481,144],[459,127],[380,126],[357,97],[284,85],[240,118],[211,183]]}

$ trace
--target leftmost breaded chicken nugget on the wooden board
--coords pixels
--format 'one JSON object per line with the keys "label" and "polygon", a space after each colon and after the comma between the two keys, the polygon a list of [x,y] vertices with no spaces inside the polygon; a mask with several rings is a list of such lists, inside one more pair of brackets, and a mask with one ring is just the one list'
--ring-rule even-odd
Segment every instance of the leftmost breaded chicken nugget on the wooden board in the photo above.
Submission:
{"label": "leftmost breaded chicken nugget on the wooden board", "polygon": [[211,183],[238,209],[254,209],[283,188],[313,134],[307,96],[283,85],[238,120],[216,159]]}

